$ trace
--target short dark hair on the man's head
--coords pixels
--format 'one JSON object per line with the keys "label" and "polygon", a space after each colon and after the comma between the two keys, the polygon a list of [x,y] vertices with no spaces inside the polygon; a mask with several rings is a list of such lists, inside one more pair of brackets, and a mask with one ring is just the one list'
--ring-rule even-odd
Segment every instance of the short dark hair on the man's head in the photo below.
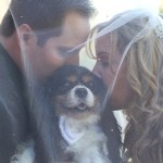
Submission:
{"label": "short dark hair on the man's head", "polygon": [[[1,23],[1,35],[10,37],[15,26],[22,24],[28,24],[36,32],[59,29],[70,11],[86,17],[95,13],[89,0],[12,0]],[[46,39],[50,36],[46,36]]]}

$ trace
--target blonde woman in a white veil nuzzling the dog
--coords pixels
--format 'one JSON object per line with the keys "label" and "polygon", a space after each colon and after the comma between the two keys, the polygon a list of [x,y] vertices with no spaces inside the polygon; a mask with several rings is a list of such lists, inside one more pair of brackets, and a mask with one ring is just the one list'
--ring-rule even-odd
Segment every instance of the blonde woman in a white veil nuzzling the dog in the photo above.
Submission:
{"label": "blonde woman in a white veil nuzzling the dog", "polygon": [[163,20],[130,10],[97,25],[87,43],[93,72],[108,86],[106,104],[125,109],[123,159],[163,163]]}

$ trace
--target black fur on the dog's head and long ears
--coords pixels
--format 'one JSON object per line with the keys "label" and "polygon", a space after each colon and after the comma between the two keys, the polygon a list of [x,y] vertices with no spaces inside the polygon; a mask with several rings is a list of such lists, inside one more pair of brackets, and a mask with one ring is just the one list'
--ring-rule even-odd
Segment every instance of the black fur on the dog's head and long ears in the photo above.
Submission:
{"label": "black fur on the dog's head and long ears", "polygon": [[[97,97],[95,109],[85,106],[83,102],[79,105],[74,105],[74,108],[66,105],[65,95],[76,85],[89,88]],[[37,118],[35,120],[37,130],[34,133],[36,162],[45,163],[48,161],[51,163],[53,161],[73,160],[73,153],[67,154],[64,151],[64,147],[67,145],[62,141],[63,138],[59,128],[59,117],[61,115],[82,120],[90,114],[99,114],[101,115],[99,125],[108,137],[109,159],[113,163],[120,163],[121,131],[112,111],[109,108],[102,110],[105,92],[106,89],[102,80],[85,67],[66,65],[54,71],[46,80],[41,93],[39,93],[41,97],[38,100],[40,109],[37,105],[37,111],[34,111],[34,114],[38,113],[38,116],[34,117]],[[83,97],[85,90],[76,93]]]}

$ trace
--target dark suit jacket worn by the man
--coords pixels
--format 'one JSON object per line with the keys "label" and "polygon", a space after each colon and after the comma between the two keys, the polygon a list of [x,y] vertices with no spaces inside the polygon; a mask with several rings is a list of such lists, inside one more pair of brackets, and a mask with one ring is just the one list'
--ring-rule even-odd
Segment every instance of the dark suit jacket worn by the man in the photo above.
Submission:
{"label": "dark suit jacket worn by the man", "polygon": [[28,133],[28,112],[21,71],[0,45],[0,163],[10,163]]}

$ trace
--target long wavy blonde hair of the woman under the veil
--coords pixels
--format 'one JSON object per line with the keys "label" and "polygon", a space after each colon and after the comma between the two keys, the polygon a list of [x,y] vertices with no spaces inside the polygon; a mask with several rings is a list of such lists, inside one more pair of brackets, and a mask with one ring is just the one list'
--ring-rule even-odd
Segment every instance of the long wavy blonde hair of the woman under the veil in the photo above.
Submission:
{"label": "long wavy blonde hair of the woman under the veil", "polygon": [[[96,57],[96,50],[92,50],[96,35],[121,15],[123,13],[91,30],[91,41],[86,46],[89,55]],[[127,79],[136,96],[129,109],[124,111],[128,125],[123,156],[126,162],[131,158],[133,163],[163,163],[163,39],[147,22],[148,17],[136,17],[110,32],[116,40],[113,49],[117,48],[123,54],[131,38],[145,29],[126,55]]]}

